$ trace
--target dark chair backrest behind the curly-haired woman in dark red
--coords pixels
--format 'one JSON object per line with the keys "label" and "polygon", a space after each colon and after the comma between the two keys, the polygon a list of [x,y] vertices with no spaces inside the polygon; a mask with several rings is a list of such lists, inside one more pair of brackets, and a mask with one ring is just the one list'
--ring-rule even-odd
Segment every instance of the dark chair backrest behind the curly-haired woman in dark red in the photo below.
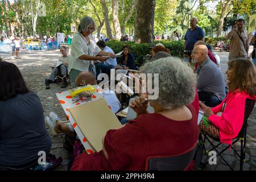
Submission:
{"label": "dark chair backrest behind the curly-haired woman in dark red", "polygon": [[183,171],[191,163],[196,146],[185,154],[176,156],[150,156],[146,160],[148,171]]}

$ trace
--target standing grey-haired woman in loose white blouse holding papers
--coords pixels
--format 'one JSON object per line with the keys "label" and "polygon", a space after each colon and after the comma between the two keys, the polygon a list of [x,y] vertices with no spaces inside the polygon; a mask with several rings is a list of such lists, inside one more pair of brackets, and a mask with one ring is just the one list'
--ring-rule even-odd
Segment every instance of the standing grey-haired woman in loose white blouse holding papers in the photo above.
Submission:
{"label": "standing grey-haired woman in loose white blouse holding papers", "polygon": [[114,53],[104,52],[96,45],[92,32],[96,30],[92,18],[82,18],[77,33],[73,36],[71,44],[71,56],[69,57],[68,73],[72,85],[75,85],[76,77],[83,71],[90,71],[96,75],[93,60],[106,61],[106,57]]}

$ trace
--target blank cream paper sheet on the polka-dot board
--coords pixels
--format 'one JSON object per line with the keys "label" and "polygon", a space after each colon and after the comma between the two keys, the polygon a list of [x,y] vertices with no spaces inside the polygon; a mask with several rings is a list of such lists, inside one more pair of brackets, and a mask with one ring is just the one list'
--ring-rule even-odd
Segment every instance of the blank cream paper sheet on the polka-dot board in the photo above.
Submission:
{"label": "blank cream paper sheet on the polka-dot board", "polygon": [[106,132],[122,126],[104,98],[71,107],[69,111],[90,146],[97,152],[102,150],[102,138]]}

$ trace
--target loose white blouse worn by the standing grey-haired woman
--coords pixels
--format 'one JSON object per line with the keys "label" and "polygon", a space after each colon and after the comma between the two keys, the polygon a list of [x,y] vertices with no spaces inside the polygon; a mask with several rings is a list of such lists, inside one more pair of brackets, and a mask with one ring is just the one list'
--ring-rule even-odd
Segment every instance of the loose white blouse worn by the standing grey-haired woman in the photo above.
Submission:
{"label": "loose white blouse worn by the standing grey-haired woman", "polygon": [[[71,69],[77,69],[81,72],[89,71],[90,61],[79,59],[82,55],[96,56],[101,51],[97,46],[92,35],[89,35],[90,45],[86,42],[84,36],[80,33],[76,33],[71,43],[71,56],[68,61],[68,73]],[[93,61],[91,61],[93,64]]]}

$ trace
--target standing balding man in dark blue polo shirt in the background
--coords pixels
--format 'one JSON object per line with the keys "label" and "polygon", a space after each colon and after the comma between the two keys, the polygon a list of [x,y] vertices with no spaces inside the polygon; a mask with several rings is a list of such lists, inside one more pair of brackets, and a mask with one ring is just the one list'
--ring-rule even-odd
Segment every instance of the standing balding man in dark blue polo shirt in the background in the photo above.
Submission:
{"label": "standing balding man in dark blue polo shirt in the background", "polygon": [[191,52],[193,50],[194,44],[198,40],[204,41],[204,31],[201,27],[197,26],[198,19],[197,18],[191,18],[190,20],[190,26],[191,28],[188,29],[188,31],[185,34],[184,40],[184,50],[186,52]]}

